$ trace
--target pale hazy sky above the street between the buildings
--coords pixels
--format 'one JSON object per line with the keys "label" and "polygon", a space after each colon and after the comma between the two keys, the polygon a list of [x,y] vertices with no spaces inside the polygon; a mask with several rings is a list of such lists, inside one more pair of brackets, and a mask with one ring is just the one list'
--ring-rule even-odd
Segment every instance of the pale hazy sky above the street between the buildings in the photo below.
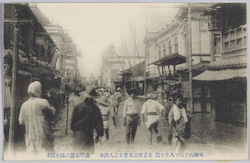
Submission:
{"label": "pale hazy sky above the street between the buildings", "polygon": [[82,57],[78,67],[83,76],[98,76],[102,55],[112,44],[118,55],[125,55],[122,39],[129,55],[144,56],[146,29],[156,32],[171,23],[178,8],[170,3],[39,3],[38,8],[53,24],[67,31]]}

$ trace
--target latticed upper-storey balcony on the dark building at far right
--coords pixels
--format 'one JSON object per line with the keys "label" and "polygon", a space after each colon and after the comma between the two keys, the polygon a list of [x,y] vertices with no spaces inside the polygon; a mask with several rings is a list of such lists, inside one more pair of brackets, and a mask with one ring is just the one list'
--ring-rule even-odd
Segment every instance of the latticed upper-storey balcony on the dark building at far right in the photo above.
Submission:
{"label": "latticed upper-storey balcony on the dark building at far right", "polygon": [[231,53],[247,48],[247,25],[230,29],[223,35],[223,53]]}

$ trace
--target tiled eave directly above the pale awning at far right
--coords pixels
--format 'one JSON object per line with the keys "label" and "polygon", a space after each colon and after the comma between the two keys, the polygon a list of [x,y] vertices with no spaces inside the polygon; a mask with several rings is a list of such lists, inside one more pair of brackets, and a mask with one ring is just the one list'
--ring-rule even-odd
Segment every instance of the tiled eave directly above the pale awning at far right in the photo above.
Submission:
{"label": "tiled eave directly above the pale awning at far right", "polygon": [[208,65],[208,69],[236,68],[247,66],[247,55],[221,58]]}

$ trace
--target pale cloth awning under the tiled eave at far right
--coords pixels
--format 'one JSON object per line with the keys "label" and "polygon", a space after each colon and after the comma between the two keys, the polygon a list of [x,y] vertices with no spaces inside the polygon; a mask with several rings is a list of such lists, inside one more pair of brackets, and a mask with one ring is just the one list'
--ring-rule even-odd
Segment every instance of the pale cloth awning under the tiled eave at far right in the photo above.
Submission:
{"label": "pale cloth awning under the tiled eave at far right", "polygon": [[193,77],[193,80],[220,81],[243,77],[247,77],[247,69],[206,70],[202,74]]}

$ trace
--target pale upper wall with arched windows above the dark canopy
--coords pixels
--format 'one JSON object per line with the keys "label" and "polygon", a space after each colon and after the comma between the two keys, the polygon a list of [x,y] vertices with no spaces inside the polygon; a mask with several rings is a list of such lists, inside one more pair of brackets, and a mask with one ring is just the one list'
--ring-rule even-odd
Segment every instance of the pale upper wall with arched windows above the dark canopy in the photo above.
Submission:
{"label": "pale upper wall with arched windows above the dark canopy", "polygon": [[[208,31],[208,18],[204,16],[204,10],[194,10],[192,12],[192,53],[197,55],[210,54],[210,31]],[[179,18],[177,22],[173,22],[168,27],[155,34],[153,38],[146,41],[146,62],[152,63],[164,56],[164,44],[166,47],[166,55],[169,55],[169,47],[171,53],[178,53],[186,56],[187,51],[187,21]],[[175,45],[178,45],[175,48]],[[160,53],[160,54],[159,54]],[[165,55],[165,56],[166,56]],[[193,56],[193,64],[199,63],[201,60],[210,60],[210,57]],[[146,64],[146,65],[147,65]],[[177,65],[176,69],[184,67],[185,64]],[[150,71],[149,76],[157,74],[158,69],[155,65],[146,66],[147,71]],[[173,67],[170,66],[171,71]]]}

